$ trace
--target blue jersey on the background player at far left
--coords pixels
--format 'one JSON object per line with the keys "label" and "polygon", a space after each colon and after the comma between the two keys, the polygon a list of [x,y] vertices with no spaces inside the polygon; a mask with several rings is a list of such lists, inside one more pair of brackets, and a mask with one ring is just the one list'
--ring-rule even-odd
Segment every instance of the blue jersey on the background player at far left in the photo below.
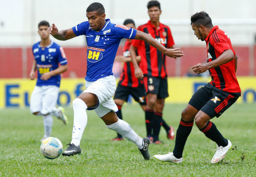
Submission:
{"label": "blue jersey on the background player at far left", "polygon": [[51,42],[47,47],[41,47],[40,42],[35,43],[32,47],[34,58],[37,62],[37,86],[43,85],[55,85],[60,86],[61,76],[52,76],[48,80],[41,80],[41,75],[43,73],[52,71],[61,65],[67,64],[67,59],[64,50],[61,46]]}

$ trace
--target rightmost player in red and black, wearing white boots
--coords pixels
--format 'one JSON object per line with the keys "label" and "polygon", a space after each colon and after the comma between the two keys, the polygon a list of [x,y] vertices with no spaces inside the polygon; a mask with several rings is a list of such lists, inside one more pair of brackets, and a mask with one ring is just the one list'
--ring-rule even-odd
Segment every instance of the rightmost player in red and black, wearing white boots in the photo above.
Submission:
{"label": "rightmost player in red and black, wearing white boots", "polygon": [[180,164],[195,119],[197,128],[217,143],[217,151],[211,160],[211,163],[215,164],[226,156],[231,149],[231,142],[222,136],[210,120],[221,116],[241,96],[236,79],[237,56],[228,35],[218,26],[213,26],[208,13],[202,11],[192,15],[191,26],[194,35],[201,41],[206,41],[207,47],[207,63],[199,63],[192,69],[197,74],[208,70],[212,80],[194,93],[182,111],[174,151],[154,157],[163,162]]}

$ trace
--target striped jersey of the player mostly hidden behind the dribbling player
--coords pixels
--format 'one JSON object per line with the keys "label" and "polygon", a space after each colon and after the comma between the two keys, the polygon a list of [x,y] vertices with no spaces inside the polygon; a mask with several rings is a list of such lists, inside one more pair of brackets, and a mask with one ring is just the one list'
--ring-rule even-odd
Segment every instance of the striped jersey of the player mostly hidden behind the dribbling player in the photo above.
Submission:
{"label": "striped jersey of the player mostly hidden behind the dribbling player", "polygon": [[[123,54],[125,57],[130,57],[130,45],[131,42],[127,39],[124,43]],[[124,62],[123,72],[121,73],[119,84],[122,86],[138,87],[139,82],[143,84],[142,80],[138,80],[134,74],[134,67],[132,62]]]}

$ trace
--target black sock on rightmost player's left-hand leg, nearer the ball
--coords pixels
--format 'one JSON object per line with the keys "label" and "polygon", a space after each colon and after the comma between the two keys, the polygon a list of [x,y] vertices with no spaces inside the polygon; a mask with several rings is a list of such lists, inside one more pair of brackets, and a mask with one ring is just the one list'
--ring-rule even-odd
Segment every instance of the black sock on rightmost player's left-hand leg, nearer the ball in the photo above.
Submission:
{"label": "black sock on rightmost player's left-hand leg, nearer the ball", "polygon": [[182,158],[183,149],[192,130],[193,124],[194,120],[186,122],[180,119],[180,125],[176,132],[175,146],[173,151],[174,156],[178,159]]}

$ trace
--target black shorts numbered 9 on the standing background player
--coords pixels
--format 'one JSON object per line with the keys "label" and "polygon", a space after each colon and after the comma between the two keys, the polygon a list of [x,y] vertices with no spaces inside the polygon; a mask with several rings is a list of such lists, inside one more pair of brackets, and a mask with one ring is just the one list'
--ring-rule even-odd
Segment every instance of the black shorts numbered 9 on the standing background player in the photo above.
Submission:
{"label": "black shorts numbered 9 on the standing background player", "polygon": [[154,93],[157,99],[169,97],[167,78],[158,78],[153,76],[145,76],[143,78],[146,93]]}

